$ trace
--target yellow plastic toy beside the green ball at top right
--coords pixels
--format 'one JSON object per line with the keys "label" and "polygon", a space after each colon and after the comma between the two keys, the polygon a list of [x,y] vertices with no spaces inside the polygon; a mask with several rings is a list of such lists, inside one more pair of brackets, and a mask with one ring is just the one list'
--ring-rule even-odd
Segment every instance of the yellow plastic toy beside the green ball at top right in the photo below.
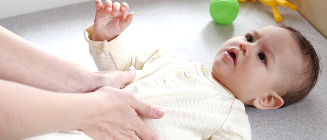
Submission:
{"label": "yellow plastic toy beside the green ball at top right", "polygon": [[[246,2],[248,0],[237,0],[238,2]],[[253,2],[255,2],[255,0],[252,0]],[[298,9],[298,7],[290,2],[288,2],[287,0],[259,0],[261,1],[263,4],[270,6],[272,9],[272,13],[274,14],[274,18],[276,22],[282,22],[283,18],[281,16],[281,14],[279,14],[276,6],[282,6],[282,7],[288,7],[290,9],[292,9],[293,11],[295,11],[296,9]]]}

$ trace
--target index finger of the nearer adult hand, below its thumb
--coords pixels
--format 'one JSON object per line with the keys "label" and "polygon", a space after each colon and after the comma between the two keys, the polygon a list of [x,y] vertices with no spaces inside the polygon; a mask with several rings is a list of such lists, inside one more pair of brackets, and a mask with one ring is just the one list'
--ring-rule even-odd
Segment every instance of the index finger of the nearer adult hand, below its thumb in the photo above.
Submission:
{"label": "index finger of the nearer adult hand, below its thumb", "polygon": [[149,127],[146,126],[143,121],[139,124],[139,127],[135,132],[136,135],[142,140],[159,140],[158,137],[151,131]]}

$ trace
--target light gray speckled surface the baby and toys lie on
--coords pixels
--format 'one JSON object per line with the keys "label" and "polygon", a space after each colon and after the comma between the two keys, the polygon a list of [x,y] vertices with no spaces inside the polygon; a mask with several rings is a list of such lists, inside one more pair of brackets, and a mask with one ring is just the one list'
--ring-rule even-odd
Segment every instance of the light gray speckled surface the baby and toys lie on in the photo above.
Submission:
{"label": "light gray speckled surface the baby and toys lie on", "polygon": [[[104,1],[103,1],[104,2]],[[114,1],[115,2],[115,1]],[[226,40],[266,25],[277,25],[270,7],[260,2],[240,3],[240,12],[231,24],[216,24],[209,14],[210,0],[126,0],[134,12],[124,31],[124,45],[135,50],[169,48],[181,51],[211,68],[216,51]],[[302,32],[321,56],[326,67],[327,39],[297,11],[278,7],[282,24]],[[86,2],[0,19],[0,25],[63,58],[97,71],[83,29],[93,23],[94,2]],[[300,103],[277,110],[246,106],[253,140],[327,139],[327,72],[322,70],[313,91]]]}

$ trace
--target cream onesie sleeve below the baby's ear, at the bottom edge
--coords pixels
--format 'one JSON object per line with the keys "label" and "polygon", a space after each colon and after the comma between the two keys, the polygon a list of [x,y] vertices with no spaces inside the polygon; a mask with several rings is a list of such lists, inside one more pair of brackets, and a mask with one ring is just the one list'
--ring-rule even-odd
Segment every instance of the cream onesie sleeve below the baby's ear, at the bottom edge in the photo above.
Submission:
{"label": "cream onesie sleeve below the baby's ear, at the bottom edge", "polygon": [[251,140],[251,127],[244,104],[235,99],[224,124],[211,135],[211,140]]}

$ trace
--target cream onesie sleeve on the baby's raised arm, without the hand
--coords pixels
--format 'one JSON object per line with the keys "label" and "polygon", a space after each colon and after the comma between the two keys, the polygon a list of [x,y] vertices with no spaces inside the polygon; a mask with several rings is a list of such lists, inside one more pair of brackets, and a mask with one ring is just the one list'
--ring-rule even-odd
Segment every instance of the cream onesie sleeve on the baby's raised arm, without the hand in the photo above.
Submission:
{"label": "cream onesie sleeve on the baby's raised arm, without the hand", "polygon": [[109,42],[107,40],[93,41],[91,40],[92,33],[93,24],[84,30],[84,38],[89,44],[89,52],[99,71],[126,71],[130,66],[134,66],[136,70],[141,70],[146,61],[159,52],[159,50],[155,50],[147,54],[138,54],[121,47],[121,35]]}

